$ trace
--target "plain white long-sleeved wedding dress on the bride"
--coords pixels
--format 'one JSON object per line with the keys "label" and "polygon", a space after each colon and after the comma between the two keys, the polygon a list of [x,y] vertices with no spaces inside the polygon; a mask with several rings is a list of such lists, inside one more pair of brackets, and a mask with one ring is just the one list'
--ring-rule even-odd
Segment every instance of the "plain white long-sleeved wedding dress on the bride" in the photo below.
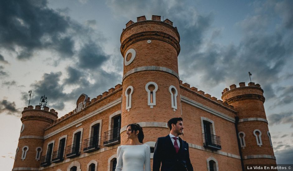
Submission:
{"label": "plain white long-sleeved wedding dress on the bride", "polygon": [[150,146],[147,144],[119,146],[115,171],[151,171]]}

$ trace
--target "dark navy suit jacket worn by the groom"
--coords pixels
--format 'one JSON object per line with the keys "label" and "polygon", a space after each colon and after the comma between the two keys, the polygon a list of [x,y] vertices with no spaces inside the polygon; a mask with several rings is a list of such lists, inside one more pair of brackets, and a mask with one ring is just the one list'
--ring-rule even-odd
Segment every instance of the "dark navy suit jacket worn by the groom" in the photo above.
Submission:
{"label": "dark navy suit jacket worn by the groom", "polygon": [[[179,137],[180,149],[176,154],[169,135],[158,138],[153,158],[153,171],[193,171],[189,159],[189,147],[186,141]],[[185,168],[186,166],[186,168]]]}

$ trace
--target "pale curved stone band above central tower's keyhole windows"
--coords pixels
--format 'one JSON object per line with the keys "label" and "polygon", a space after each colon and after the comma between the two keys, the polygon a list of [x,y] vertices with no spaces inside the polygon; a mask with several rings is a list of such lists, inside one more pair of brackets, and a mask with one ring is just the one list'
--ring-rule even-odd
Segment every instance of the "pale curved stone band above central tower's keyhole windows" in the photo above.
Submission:
{"label": "pale curved stone band above central tower's keyhole windows", "polygon": [[159,67],[159,66],[145,66],[145,67],[137,67],[137,68],[133,68],[132,70],[126,72],[122,78],[122,81],[129,76],[130,74],[133,74],[135,72],[140,72],[140,71],[163,71],[163,72],[168,72],[169,74],[172,74],[174,76],[176,76],[179,79],[179,75],[177,72],[175,72],[174,70],[171,70],[169,68],[166,67]]}

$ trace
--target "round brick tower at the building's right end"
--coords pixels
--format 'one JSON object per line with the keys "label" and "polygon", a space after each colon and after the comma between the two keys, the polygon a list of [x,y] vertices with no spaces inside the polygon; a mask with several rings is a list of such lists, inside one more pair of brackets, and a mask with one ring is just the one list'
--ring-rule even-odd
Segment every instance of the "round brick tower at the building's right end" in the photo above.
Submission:
{"label": "round brick tower at the building's right end", "polygon": [[[231,85],[222,92],[223,103],[237,111],[238,140],[243,164],[276,164],[263,103],[265,98],[259,84],[244,82]],[[237,120],[237,119],[236,119]]]}

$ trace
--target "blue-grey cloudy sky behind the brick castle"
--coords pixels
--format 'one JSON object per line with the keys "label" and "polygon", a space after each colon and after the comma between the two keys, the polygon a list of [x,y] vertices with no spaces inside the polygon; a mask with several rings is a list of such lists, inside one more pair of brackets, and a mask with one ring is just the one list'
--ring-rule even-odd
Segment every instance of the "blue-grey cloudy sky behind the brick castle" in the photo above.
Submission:
{"label": "blue-grey cloudy sky behind the brick castle", "polygon": [[0,165],[12,168],[21,111],[42,95],[59,117],[85,93],[121,84],[120,34],[160,15],[180,33],[183,82],[221,99],[229,85],[264,90],[278,164],[293,158],[293,1],[0,1]]}

